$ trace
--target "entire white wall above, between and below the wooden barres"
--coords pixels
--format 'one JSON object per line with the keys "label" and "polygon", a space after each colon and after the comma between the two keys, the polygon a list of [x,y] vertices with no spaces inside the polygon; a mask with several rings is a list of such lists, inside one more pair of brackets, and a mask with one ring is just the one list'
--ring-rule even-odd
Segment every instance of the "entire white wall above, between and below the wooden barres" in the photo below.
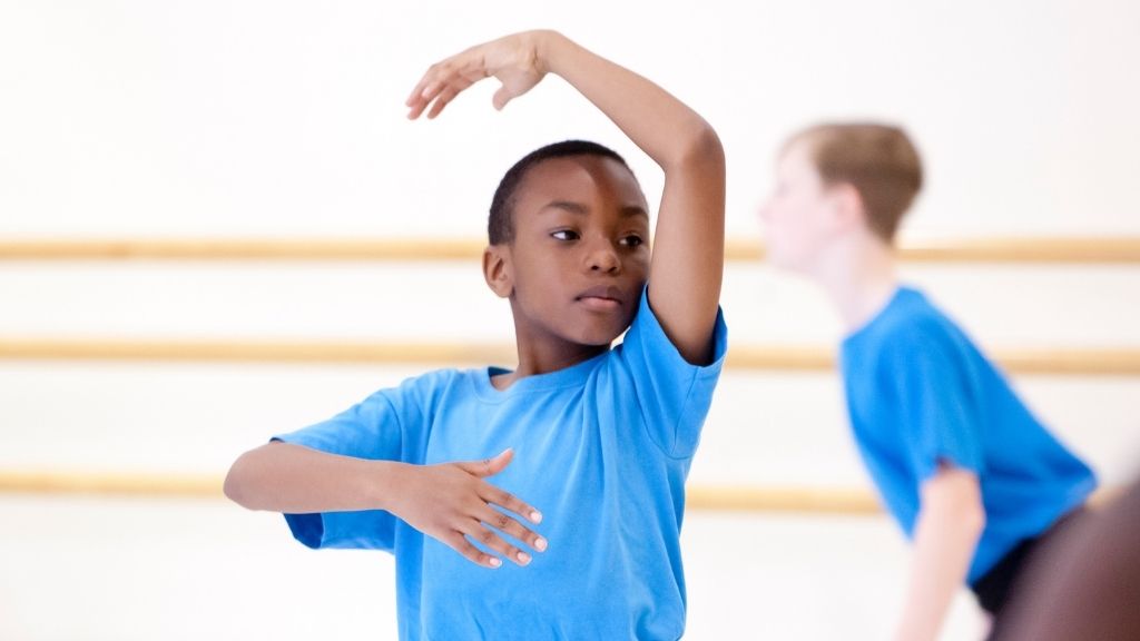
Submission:
{"label": "entire white wall above, between and below the wooden barres", "polygon": [[[1140,5],[811,0],[0,3],[0,238],[475,237],[500,173],[547,141],[660,172],[561,81],[404,120],[427,64],[552,26],[712,122],[728,228],[792,129],[906,124],[929,168],[911,235],[1140,234]],[[907,266],[992,349],[1140,347],[1140,269]],[[807,284],[733,263],[734,342],[822,346]],[[455,318],[470,322],[457,324]],[[0,263],[0,338],[506,341],[477,265]],[[420,367],[0,362],[0,470],[221,473],[268,435]],[[1140,466],[1135,378],[1024,376],[1106,482]],[[726,373],[692,481],[865,487],[829,374]],[[689,638],[880,639],[905,547],[885,518],[691,512]],[[310,553],[222,502],[0,495],[0,639],[392,633],[392,565]],[[332,631],[324,626],[332,626]],[[976,636],[966,595],[945,639]]]}

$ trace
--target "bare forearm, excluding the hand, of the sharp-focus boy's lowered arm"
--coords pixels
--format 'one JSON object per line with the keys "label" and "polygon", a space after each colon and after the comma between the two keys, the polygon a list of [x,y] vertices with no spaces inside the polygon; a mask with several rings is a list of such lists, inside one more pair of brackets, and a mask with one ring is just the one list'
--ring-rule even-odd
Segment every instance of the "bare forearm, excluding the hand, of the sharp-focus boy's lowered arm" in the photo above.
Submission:
{"label": "bare forearm, excluding the hand, of the sharp-focus boy's lowered arm", "polygon": [[398,492],[401,466],[270,443],[238,457],[223,489],[251,510],[299,514],[384,510]]}

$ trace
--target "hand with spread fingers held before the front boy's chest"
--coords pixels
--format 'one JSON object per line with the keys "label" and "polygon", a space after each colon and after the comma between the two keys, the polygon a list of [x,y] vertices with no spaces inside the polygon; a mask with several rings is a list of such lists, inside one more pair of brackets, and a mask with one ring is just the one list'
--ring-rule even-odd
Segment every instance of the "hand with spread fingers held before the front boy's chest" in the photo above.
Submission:
{"label": "hand with spread fingers held before the front boy's chest", "polygon": [[526,566],[530,563],[530,554],[507,543],[496,529],[544,552],[546,539],[522,525],[523,520],[538,524],[543,516],[511,493],[483,480],[503,471],[512,457],[514,452],[506,449],[483,461],[406,465],[400,474],[399,498],[393,501],[390,511],[474,563],[497,568],[503,561],[472,545],[467,537]]}

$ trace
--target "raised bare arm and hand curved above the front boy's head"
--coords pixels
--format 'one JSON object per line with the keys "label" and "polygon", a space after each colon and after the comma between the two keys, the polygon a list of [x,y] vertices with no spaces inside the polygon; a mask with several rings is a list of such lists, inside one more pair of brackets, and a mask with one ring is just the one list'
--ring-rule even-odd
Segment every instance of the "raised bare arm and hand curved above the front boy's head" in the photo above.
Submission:
{"label": "raised bare arm and hand curved above the front boy's head", "polygon": [[[494,75],[496,108],[546,73],[567,80],[665,171],[649,289],[669,340],[691,363],[712,358],[724,273],[724,148],[697,112],[636,73],[553,31],[508,35],[453,56],[408,98],[410,117],[437,115],[455,96]],[[432,104],[434,102],[434,104]]]}

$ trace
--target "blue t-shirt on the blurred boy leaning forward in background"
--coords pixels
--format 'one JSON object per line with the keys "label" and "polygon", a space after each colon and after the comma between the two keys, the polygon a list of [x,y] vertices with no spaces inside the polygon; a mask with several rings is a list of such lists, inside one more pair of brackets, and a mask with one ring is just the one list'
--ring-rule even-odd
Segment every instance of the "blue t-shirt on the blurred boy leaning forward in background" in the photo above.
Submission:
{"label": "blue t-shirt on the blurred boy leaning forward in background", "polygon": [[907,537],[920,486],[939,462],[978,474],[986,526],[971,584],[1097,485],[962,330],[913,289],[899,287],[847,336],[841,367],[860,453]]}

